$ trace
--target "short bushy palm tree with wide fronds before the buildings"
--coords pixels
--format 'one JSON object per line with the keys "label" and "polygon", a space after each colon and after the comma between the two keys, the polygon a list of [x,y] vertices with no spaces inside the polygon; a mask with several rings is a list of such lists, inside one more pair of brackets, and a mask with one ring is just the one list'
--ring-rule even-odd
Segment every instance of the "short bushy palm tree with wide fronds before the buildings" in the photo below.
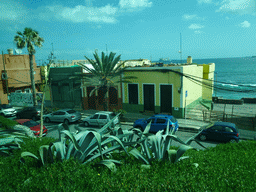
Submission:
{"label": "short bushy palm tree with wide fronds before the buildings", "polygon": [[[95,88],[90,92],[89,96],[92,96],[96,90],[101,90],[103,93],[103,108],[104,111],[108,110],[108,102],[106,100],[106,95],[109,87],[114,83],[127,83],[130,82],[129,79],[133,79],[133,76],[121,77],[124,69],[124,62],[120,62],[121,55],[115,57],[116,53],[110,52],[109,55],[105,55],[104,52],[101,53],[101,58],[99,57],[97,51],[93,54],[95,60],[89,59],[85,56],[88,62],[93,68],[89,68],[86,64],[78,63],[87,72],[91,73],[92,76],[83,76],[87,84],[95,86]],[[119,80],[114,81],[116,77],[120,77]]]}

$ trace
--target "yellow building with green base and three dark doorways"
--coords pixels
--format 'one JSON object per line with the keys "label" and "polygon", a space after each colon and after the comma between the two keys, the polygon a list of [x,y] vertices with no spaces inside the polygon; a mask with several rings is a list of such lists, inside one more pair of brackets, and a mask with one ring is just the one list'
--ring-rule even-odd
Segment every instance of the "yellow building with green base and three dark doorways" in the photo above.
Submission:
{"label": "yellow building with green base and three dark doorways", "polygon": [[137,78],[122,85],[123,109],[182,118],[185,107],[210,104],[214,70],[214,63],[127,68],[123,75]]}

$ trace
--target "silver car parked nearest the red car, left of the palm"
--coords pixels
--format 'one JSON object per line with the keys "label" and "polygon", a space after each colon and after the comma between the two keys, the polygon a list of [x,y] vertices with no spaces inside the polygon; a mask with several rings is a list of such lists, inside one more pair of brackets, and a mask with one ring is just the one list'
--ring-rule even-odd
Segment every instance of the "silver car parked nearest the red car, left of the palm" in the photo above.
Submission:
{"label": "silver car parked nearest the red car, left of the palm", "polygon": [[81,113],[73,109],[62,109],[44,115],[44,121],[49,122],[64,122],[65,124],[73,123],[81,120]]}

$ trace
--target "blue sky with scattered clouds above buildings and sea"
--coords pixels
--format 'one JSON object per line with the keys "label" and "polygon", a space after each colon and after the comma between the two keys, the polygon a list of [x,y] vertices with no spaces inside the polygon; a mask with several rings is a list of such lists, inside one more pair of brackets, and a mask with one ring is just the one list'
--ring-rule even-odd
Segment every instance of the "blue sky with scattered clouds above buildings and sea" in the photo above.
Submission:
{"label": "blue sky with scattered clouds above buildings and sea", "polygon": [[38,62],[51,51],[60,60],[95,51],[173,60],[180,47],[182,59],[256,55],[255,0],[0,0],[0,10],[0,50],[30,27],[44,39]]}

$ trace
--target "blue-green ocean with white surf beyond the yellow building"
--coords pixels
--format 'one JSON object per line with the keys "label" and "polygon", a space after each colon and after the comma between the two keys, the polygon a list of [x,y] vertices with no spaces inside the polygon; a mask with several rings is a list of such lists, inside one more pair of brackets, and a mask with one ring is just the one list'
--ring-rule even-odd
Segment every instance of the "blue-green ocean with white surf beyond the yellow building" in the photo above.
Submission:
{"label": "blue-green ocean with white surf beyond the yellow building", "polygon": [[[180,63],[180,60],[172,62]],[[182,63],[185,62],[182,60]],[[193,59],[193,63],[215,63],[213,96],[224,99],[256,98],[256,57]]]}

